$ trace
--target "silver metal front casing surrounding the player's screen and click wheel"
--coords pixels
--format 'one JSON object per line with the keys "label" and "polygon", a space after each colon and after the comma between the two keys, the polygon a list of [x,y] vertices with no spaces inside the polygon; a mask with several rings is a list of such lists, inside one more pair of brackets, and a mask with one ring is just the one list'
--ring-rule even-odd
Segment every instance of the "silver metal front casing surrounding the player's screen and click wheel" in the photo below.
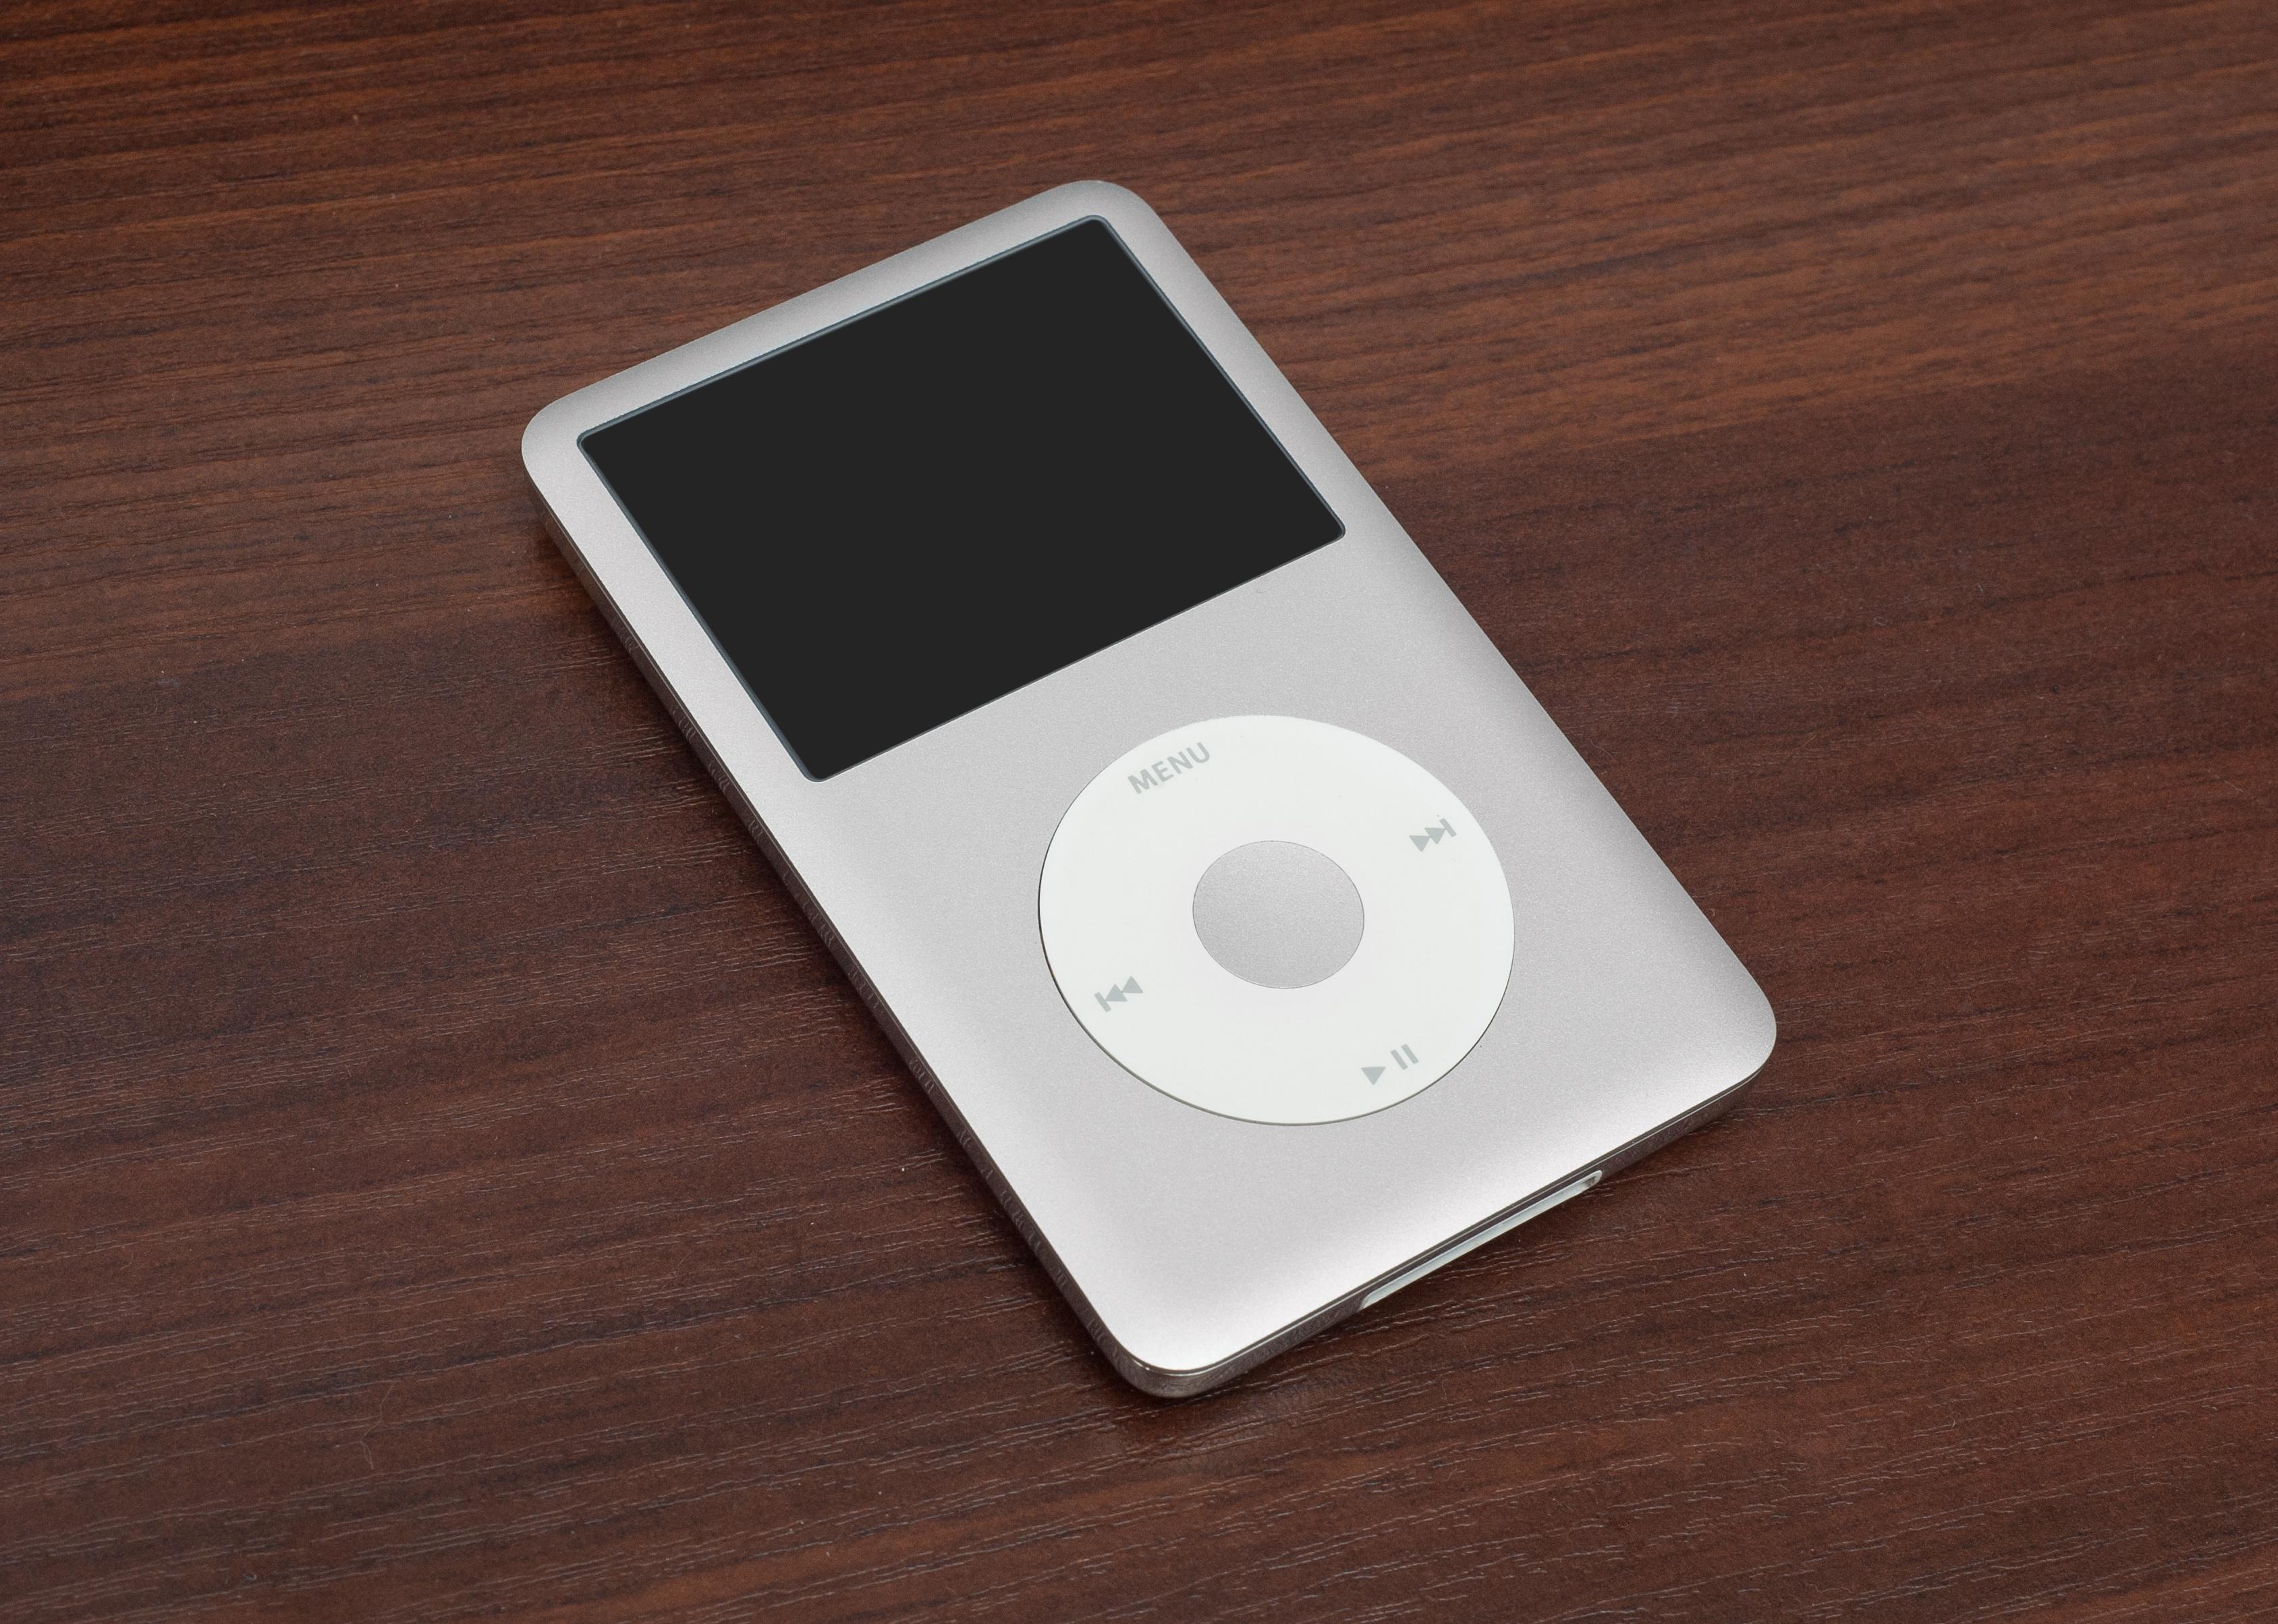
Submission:
{"label": "silver metal front casing surrounding the player's screen and click wheel", "polygon": [[[872,305],[1105,219],[1346,524],[1330,547],[813,781],[626,522],[579,435]],[[943,1105],[1134,1378],[1239,1367],[1449,1239],[1754,1075],[1772,1011],[1155,214],[1059,187],[556,401],[524,462],[588,583],[765,825]],[[765,492],[754,492],[763,506]],[[1043,959],[1062,813],[1155,733],[1294,715],[1453,788],[1510,879],[1513,975],[1478,1045],[1374,1116],[1262,1125],[1112,1061]]]}

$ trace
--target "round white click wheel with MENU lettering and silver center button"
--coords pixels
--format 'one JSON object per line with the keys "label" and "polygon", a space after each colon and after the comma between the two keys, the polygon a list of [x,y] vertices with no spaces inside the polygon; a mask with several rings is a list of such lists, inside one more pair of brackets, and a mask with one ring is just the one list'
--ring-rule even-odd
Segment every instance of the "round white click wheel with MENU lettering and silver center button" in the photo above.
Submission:
{"label": "round white click wheel with MENU lettering and silver center button", "polygon": [[1460,1061],[1510,982],[1510,886],[1431,772],[1328,722],[1150,738],[1043,859],[1043,957],[1125,1071],[1253,1123],[1335,1123]]}

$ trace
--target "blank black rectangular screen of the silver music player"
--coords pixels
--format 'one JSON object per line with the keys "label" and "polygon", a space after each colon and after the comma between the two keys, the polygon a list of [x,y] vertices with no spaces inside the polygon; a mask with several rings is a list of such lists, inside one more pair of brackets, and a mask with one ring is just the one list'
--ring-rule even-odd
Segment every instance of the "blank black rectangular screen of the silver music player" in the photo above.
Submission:
{"label": "blank black rectangular screen of the silver music player", "polygon": [[583,444],[816,779],[1344,533],[1100,221]]}

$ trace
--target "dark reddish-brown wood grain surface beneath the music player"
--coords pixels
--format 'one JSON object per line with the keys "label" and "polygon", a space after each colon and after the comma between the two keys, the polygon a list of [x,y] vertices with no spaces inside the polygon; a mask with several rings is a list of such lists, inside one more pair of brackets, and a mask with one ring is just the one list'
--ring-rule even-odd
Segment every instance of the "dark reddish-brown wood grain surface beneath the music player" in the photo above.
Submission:
{"label": "dark reddish-brown wood grain surface beneath the music player", "polygon": [[[0,14],[0,1615],[2278,1615],[2269,0]],[[540,531],[1139,189],[1781,1014],[1191,1403]]]}

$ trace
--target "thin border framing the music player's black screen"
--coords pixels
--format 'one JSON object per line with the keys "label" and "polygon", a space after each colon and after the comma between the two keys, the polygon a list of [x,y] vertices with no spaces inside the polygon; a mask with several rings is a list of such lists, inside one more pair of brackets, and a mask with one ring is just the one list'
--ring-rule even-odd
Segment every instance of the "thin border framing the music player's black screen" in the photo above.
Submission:
{"label": "thin border framing the music player's black screen", "polygon": [[[1292,558],[1285,558],[1278,565],[1271,565],[1269,569],[1260,572],[1257,576],[1248,576],[1246,581],[1237,581],[1237,583],[1232,583],[1228,588],[1219,588],[1216,592],[1205,592],[1203,597],[1194,599],[1191,604],[1187,604],[1185,608],[1175,610],[1166,620],[1175,620],[1178,615],[1187,615],[1187,613],[1201,608],[1203,604],[1210,604],[1212,599],[1223,597],[1228,592],[1239,592],[1251,581],[1257,581],[1264,574],[1273,574],[1276,569],[1287,569],[1289,565],[1301,563],[1305,556],[1310,556],[1310,553],[1314,553],[1314,551],[1319,551],[1324,547],[1335,547],[1339,540],[1344,540],[1344,535],[1351,531],[1351,526],[1346,524],[1346,519],[1328,501],[1328,497],[1321,492],[1319,483],[1312,478],[1312,474],[1305,469],[1305,465],[1296,458],[1296,453],[1287,444],[1283,444],[1280,435],[1276,435],[1276,430],[1273,430],[1273,424],[1267,421],[1267,417],[1260,412],[1257,403],[1242,389],[1239,380],[1235,380],[1228,374],[1226,362],[1219,360],[1219,355],[1210,348],[1210,344],[1203,339],[1203,335],[1196,333],[1194,323],[1187,319],[1187,312],[1182,312],[1178,307],[1178,301],[1171,298],[1171,294],[1162,287],[1162,282],[1155,278],[1155,273],[1139,257],[1139,253],[1123,239],[1123,235],[1116,230],[1114,221],[1109,221],[1100,212],[1089,212],[1089,214],[1080,214],[1075,219],[1068,219],[1068,221],[1064,221],[1059,225],[1052,225],[1046,232],[1036,232],[1036,235],[1025,237],[1023,241],[1016,241],[1016,244],[1011,244],[1011,246],[1007,246],[1007,248],[1002,248],[998,253],[984,255],[984,257],[973,260],[968,264],[961,264],[961,266],[957,266],[952,271],[945,271],[945,273],[941,273],[941,276],[936,276],[932,280],[925,280],[925,282],[920,282],[916,287],[909,287],[909,289],[900,292],[900,294],[895,294],[893,298],[886,298],[886,301],[875,303],[875,305],[866,305],[866,307],[861,307],[861,310],[857,310],[857,312],[852,312],[852,314],[847,314],[847,317],[843,317],[838,321],[818,326],[818,328],[813,328],[809,333],[802,333],[795,339],[788,339],[784,344],[775,344],[772,348],[765,348],[765,351],[761,351],[756,355],[747,355],[745,360],[736,362],[734,367],[724,367],[722,371],[715,371],[711,376],[697,378],[697,380],[693,380],[693,383],[688,383],[688,385],[683,385],[683,387],[679,387],[679,389],[674,389],[670,394],[661,394],[654,401],[642,401],[640,405],[633,405],[631,410],[617,412],[615,417],[611,417],[606,421],[599,421],[599,424],[592,424],[588,428],[581,428],[576,433],[579,453],[585,456],[588,467],[592,467],[599,474],[599,465],[592,460],[592,453],[588,449],[588,442],[595,435],[601,435],[601,433],[606,433],[606,430],[615,428],[617,424],[624,424],[624,421],[629,421],[633,417],[642,417],[645,412],[652,412],[658,405],[677,401],[677,399],[681,399],[686,394],[695,394],[697,389],[708,389],[715,383],[722,383],[724,378],[734,378],[736,374],[749,371],[754,367],[763,367],[763,364],[768,364],[772,360],[779,360],[781,355],[786,355],[790,351],[797,351],[797,348],[802,348],[806,344],[825,339],[831,333],[841,333],[845,328],[852,328],[852,326],[857,326],[861,321],[868,321],[870,317],[877,317],[877,314],[882,314],[882,312],[886,312],[886,310],[891,310],[895,305],[902,305],[902,303],[907,303],[911,298],[929,294],[936,287],[943,287],[943,285],[954,282],[954,280],[959,280],[964,276],[982,271],[982,269],[986,269],[991,264],[998,264],[1000,260],[1009,260],[1014,255],[1027,253],[1030,248],[1039,248],[1041,244],[1046,244],[1046,241],[1050,241],[1055,237],[1062,237],[1062,235],[1066,235],[1071,230],[1077,230],[1082,225],[1089,225],[1089,223],[1103,225],[1107,230],[1107,235],[1114,239],[1114,244],[1125,255],[1130,255],[1130,260],[1132,260],[1134,269],[1139,271],[1139,276],[1155,292],[1155,296],[1162,298],[1164,305],[1171,310],[1171,317],[1178,321],[1180,330],[1185,330],[1187,337],[1194,339],[1194,344],[1201,348],[1201,353],[1210,362],[1210,367],[1216,369],[1219,378],[1223,378],[1226,385],[1235,392],[1235,399],[1251,412],[1251,417],[1257,421],[1260,430],[1267,435],[1267,442],[1289,460],[1289,467],[1296,471],[1298,481],[1312,492],[1314,501],[1321,503],[1324,512],[1328,515],[1330,524],[1335,526],[1335,533],[1326,542],[1314,542],[1314,544],[1305,547],[1305,551],[1301,551],[1301,553],[1296,553]],[[624,506],[622,497],[617,494],[617,490],[613,485],[608,485],[606,476],[604,476],[601,483],[608,490],[611,501],[617,506],[617,515],[633,528],[636,535],[640,535],[642,547],[649,547],[649,540],[640,531],[640,522],[633,517],[631,508]],[[654,547],[649,547],[649,556],[656,558],[658,565],[663,565],[663,558],[656,553]],[[663,565],[663,567],[665,567],[665,572],[670,576],[672,574],[670,565]],[[690,610],[690,615],[697,620],[697,624],[704,629],[704,635],[711,642],[713,651],[736,672],[736,679],[743,683],[745,695],[749,695],[752,704],[768,720],[768,729],[775,733],[777,745],[781,745],[781,749],[790,756],[793,765],[797,765],[800,774],[809,784],[822,784],[822,781],[836,779],[843,772],[854,772],[854,770],[868,765],[870,761],[877,761],[879,756],[893,754],[895,749],[902,749],[902,747],[916,743],[918,738],[925,738],[927,733],[934,733],[934,731],[939,731],[943,727],[954,727],[957,722],[961,722],[964,717],[973,715],[975,711],[982,711],[982,708],[986,708],[991,704],[1009,699],[1021,688],[1030,688],[1034,683],[1050,681],[1052,676],[1057,676],[1059,672],[1068,670],[1071,665],[1080,665],[1087,658],[1105,654],[1107,649],[1116,647],[1118,642],[1130,642],[1132,638],[1144,638],[1148,631],[1155,631],[1157,626],[1164,624],[1164,620],[1157,620],[1157,622],[1150,622],[1148,626],[1141,626],[1139,631],[1130,631],[1130,633],[1123,633],[1121,638],[1112,638],[1107,642],[1100,642],[1098,647],[1089,649],[1087,654],[1077,656],[1075,661],[1064,661],[1062,665],[1055,665],[1055,667],[1050,667],[1046,672],[1039,672],[1036,676],[1030,676],[1027,681],[1016,683],[1014,688],[1007,688],[1007,690],[1002,690],[1002,692],[998,692],[998,695],[993,695],[989,699],[982,699],[980,704],[973,704],[973,706],[968,706],[968,708],[964,708],[964,711],[959,711],[959,713],[954,713],[950,717],[943,717],[941,722],[934,722],[934,724],[923,727],[923,729],[918,729],[913,733],[907,733],[900,740],[895,740],[895,743],[891,743],[891,745],[886,745],[882,749],[872,749],[872,752],[859,756],[857,761],[829,768],[827,772],[816,772],[813,765],[809,763],[809,758],[790,743],[790,738],[786,736],[781,722],[770,711],[765,697],[759,695],[759,690],[754,690],[749,686],[749,681],[745,679],[743,667],[727,651],[727,647],[720,640],[720,633],[713,629],[713,624],[704,615],[702,606],[693,597],[688,597],[686,588],[681,585],[681,581],[677,576],[674,576],[674,590],[681,594],[681,601],[686,604],[686,608]]]}

